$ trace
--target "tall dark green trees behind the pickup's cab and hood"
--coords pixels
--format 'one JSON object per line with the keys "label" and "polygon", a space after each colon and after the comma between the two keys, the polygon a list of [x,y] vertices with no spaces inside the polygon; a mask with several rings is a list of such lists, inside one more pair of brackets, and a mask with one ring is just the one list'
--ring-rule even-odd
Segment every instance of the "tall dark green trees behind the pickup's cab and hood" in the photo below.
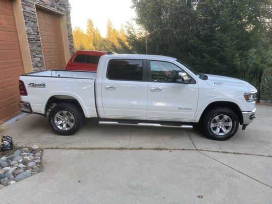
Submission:
{"label": "tall dark green trees behind the pickup's cab and hood", "polygon": [[[251,71],[257,75],[272,72],[271,0],[132,0],[132,3],[136,23],[143,30],[138,35],[128,25],[127,39],[136,53],[145,53],[142,33],[146,32],[149,54],[176,57],[202,72],[241,79],[248,78]],[[270,98],[271,93],[272,90]]]}

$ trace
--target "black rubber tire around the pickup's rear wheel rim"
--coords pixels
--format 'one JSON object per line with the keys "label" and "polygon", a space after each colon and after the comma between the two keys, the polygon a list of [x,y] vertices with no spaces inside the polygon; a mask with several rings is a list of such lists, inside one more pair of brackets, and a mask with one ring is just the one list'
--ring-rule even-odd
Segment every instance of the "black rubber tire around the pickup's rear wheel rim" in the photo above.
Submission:
{"label": "black rubber tire around the pickup's rear wheel rim", "polygon": [[[55,124],[55,116],[60,111],[67,111],[69,112],[69,115],[71,114],[73,116],[73,126],[69,126],[69,130],[61,130],[56,124]],[[52,128],[52,130],[59,134],[59,135],[72,135],[76,133],[80,126],[83,123],[83,113],[82,111],[74,104],[71,103],[61,103],[55,106],[51,112],[48,115],[48,122]]]}

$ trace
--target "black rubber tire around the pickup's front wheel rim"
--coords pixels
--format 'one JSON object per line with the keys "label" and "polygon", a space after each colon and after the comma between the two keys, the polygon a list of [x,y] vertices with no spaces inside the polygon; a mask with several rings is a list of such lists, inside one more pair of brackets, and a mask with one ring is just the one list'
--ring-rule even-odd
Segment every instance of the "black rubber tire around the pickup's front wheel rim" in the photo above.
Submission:
{"label": "black rubber tire around the pickup's front wheel rim", "polygon": [[[226,115],[228,116],[232,121],[232,127],[229,127],[229,132],[225,135],[217,135],[212,131],[211,128],[211,122],[214,117],[218,115]],[[204,131],[205,135],[212,139],[212,140],[227,140],[230,139],[232,136],[235,135],[239,127],[239,119],[237,115],[229,108],[226,107],[217,107],[210,109],[207,112],[207,115],[204,116],[204,119],[202,121],[202,130]],[[216,129],[216,127],[214,127]],[[222,130],[221,130],[222,131]],[[225,130],[226,131],[226,130]]]}

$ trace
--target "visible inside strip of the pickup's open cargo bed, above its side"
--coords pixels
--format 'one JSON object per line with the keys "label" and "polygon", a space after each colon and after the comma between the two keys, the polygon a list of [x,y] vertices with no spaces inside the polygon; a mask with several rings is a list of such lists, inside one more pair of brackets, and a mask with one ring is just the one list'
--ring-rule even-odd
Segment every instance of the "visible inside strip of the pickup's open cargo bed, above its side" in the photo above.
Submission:
{"label": "visible inside strip of the pickup's open cargo bed, above its side", "polygon": [[72,71],[72,70],[43,70],[22,74],[31,77],[53,77],[53,78],[72,78],[72,79],[95,79],[96,72],[92,71]]}

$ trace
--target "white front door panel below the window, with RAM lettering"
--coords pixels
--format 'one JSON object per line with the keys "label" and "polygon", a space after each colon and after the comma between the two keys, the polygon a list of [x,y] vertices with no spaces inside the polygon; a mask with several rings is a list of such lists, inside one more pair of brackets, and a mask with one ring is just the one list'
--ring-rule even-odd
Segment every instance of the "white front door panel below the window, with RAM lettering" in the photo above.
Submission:
{"label": "white front door panel below the window, with RAM lettering", "polygon": [[192,121],[198,96],[198,84],[148,82],[147,118]]}

